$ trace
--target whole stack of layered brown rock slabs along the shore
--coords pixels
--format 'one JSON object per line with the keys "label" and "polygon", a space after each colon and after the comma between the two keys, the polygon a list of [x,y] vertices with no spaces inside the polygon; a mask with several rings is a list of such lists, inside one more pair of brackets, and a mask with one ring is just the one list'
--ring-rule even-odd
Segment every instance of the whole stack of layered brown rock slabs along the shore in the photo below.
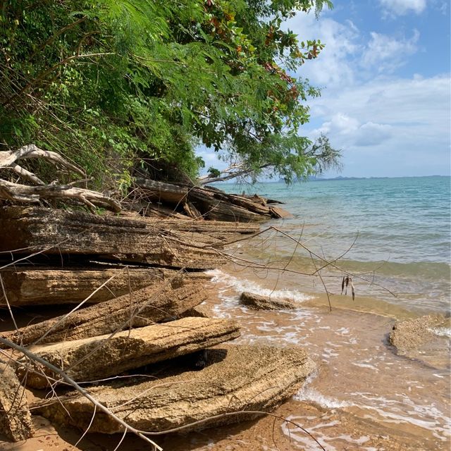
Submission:
{"label": "whole stack of layered brown rock slabs along the shore", "polygon": [[[237,208],[246,203],[235,201]],[[259,199],[249,202],[261,209]],[[227,424],[255,415],[245,410],[271,410],[314,369],[299,348],[223,345],[240,335],[235,321],[201,317],[206,315],[199,304],[210,293],[203,271],[226,263],[224,246],[258,232],[258,226],[13,206],[0,209],[0,229],[0,252],[6,251],[0,254],[0,304],[21,313],[41,309],[33,323],[0,337],[43,359],[14,355],[24,385],[54,384],[58,398],[32,406],[51,421],[86,428],[94,412],[87,398],[58,385],[58,371],[85,382],[92,396],[130,426],[165,431]],[[92,386],[118,375],[128,377]],[[11,409],[27,412],[18,402]],[[32,434],[25,420],[23,438]],[[5,430],[13,431],[14,421],[6,418]],[[193,421],[200,423],[190,426]],[[115,433],[122,427],[97,412],[89,431]]]}

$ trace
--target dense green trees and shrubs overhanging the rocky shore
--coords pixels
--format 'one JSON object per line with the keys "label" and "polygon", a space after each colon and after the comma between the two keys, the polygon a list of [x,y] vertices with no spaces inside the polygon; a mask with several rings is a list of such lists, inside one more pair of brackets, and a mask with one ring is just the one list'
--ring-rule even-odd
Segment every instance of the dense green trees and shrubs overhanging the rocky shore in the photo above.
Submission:
{"label": "dense green trees and shrubs overhanging the rocky shore", "polygon": [[324,137],[312,145],[299,136],[309,119],[306,101],[319,92],[289,73],[323,44],[299,42],[283,26],[297,11],[319,13],[323,4],[331,6],[3,1],[0,150],[33,142],[112,190],[128,186],[132,166],[177,167],[195,178],[199,144],[254,174],[268,166],[286,180],[314,173],[336,163],[339,152]]}

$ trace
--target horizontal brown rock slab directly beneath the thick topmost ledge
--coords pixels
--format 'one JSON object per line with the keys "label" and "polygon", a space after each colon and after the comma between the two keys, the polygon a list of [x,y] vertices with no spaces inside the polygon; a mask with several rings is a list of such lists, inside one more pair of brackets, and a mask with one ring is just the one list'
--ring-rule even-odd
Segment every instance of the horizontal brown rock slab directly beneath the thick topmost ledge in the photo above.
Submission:
{"label": "horizontal brown rock slab directly beneath the thick topmost ledge", "polygon": [[[177,271],[161,268],[99,268],[99,266],[92,269],[8,266],[0,271],[8,302],[13,307],[78,304],[88,297],[87,303],[95,304],[125,295],[130,289],[136,291],[149,287],[150,293],[152,291],[150,287],[158,290],[163,281],[170,280],[176,275]],[[178,278],[183,280],[181,282],[183,285],[191,281],[199,283],[209,279],[204,273],[185,273]],[[104,283],[106,285],[97,290]],[[0,306],[1,304],[6,304],[6,299],[0,291]]]}

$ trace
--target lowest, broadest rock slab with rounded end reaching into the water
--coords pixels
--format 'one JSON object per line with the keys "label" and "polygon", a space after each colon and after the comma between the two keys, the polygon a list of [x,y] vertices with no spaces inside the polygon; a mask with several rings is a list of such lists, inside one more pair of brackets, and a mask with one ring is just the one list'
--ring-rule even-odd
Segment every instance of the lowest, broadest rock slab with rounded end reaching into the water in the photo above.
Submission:
{"label": "lowest, broadest rock slab with rounded end reaching into the water", "polygon": [[[89,393],[130,426],[144,431],[167,431],[201,421],[186,431],[257,416],[245,410],[271,411],[296,393],[315,367],[299,347],[219,345],[208,350],[206,363],[202,371],[181,372],[177,362],[173,375],[158,373],[158,380],[128,386],[111,383],[91,388]],[[37,410],[59,424],[82,429],[94,414],[91,402],[76,394],[60,397],[58,402],[42,402]],[[221,414],[226,415],[213,418]],[[123,428],[97,410],[89,431],[116,433]]]}

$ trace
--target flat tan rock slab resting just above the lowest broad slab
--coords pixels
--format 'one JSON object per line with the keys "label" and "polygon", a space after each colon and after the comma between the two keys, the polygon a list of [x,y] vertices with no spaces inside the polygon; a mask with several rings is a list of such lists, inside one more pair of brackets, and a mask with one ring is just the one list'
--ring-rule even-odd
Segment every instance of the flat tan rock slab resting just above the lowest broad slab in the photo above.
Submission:
{"label": "flat tan rock slab resting just above the lowest broad slab", "polygon": [[[62,369],[75,381],[116,376],[140,366],[173,359],[206,347],[233,340],[240,336],[235,321],[225,319],[183,318],[164,324],[139,329],[124,330],[111,335],[101,335],[54,345],[32,346],[31,352]],[[58,378],[40,364],[32,369]],[[18,371],[28,371],[29,368]],[[44,388],[47,378],[35,372],[27,373],[26,383],[32,388]]]}

